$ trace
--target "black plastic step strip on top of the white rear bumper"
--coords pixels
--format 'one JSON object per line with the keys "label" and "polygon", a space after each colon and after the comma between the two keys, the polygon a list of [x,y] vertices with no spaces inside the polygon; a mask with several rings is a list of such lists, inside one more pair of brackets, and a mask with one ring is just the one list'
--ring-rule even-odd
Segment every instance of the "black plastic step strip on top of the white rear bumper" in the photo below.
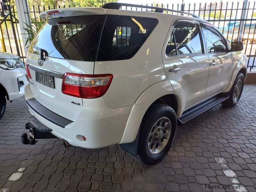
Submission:
{"label": "black plastic step strip on top of the white rear bumper", "polygon": [[27,103],[29,107],[31,107],[36,113],[38,113],[40,116],[44,117],[48,121],[65,128],[70,123],[73,123],[73,121],[66,119],[65,117],[62,117],[58,115],[57,113],[52,112],[48,108],[44,107],[42,104],[40,104],[35,98],[28,99]]}

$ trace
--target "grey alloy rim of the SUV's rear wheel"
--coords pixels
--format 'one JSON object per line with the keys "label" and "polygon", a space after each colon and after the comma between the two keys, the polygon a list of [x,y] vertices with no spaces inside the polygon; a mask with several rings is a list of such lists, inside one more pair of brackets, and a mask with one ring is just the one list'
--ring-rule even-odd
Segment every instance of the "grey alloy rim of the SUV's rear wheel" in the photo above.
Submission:
{"label": "grey alloy rim of the SUV's rear wheel", "polygon": [[162,117],[156,121],[148,135],[148,151],[156,155],[164,150],[172,132],[171,121],[167,117]]}

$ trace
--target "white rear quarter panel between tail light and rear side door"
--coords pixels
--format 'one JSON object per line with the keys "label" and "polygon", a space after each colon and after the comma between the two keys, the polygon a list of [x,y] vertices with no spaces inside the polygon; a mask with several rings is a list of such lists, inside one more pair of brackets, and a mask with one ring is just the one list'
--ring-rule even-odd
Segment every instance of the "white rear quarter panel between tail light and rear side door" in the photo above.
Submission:
{"label": "white rear quarter panel between tail light and rear side door", "polygon": [[[144,12],[107,10],[107,14],[134,15],[152,17],[154,15]],[[175,16],[173,16],[175,17]],[[103,96],[110,108],[133,105],[140,94],[152,84],[167,80],[161,59],[163,36],[170,28],[169,15],[159,14],[158,24],[141,46],[139,51],[128,60],[96,61],[94,74],[113,74],[115,80]],[[163,34],[166,31],[166,34]],[[159,36],[163,34],[163,36]],[[156,44],[155,42],[159,42]],[[129,63],[129,65],[127,65]],[[129,89],[129,94],[127,94]],[[131,97],[132,94],[132,97]],[[116,97],[122,100],[116,100]]]}

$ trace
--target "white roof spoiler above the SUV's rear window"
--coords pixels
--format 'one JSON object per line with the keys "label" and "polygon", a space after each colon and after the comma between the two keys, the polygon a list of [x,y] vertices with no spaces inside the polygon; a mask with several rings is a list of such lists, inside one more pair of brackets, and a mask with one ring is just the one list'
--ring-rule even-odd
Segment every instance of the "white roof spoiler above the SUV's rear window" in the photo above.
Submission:
{"label": "white roof spoiler above the SUV's rear window", "polygon": [[70,17],[70,16],[81,16],[81,15],[105,15],[106,10],[100,7],[72,7],[62,9],[52,9],[41,12],[39,17],[42,19],[52,19],[58,17]]}

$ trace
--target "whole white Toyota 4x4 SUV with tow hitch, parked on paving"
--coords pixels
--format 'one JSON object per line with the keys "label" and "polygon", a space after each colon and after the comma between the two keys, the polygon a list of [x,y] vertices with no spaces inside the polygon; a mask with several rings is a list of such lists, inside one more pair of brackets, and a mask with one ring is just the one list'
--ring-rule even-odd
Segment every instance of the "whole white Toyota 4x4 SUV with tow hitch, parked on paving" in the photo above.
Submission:
{"label": "whole white Toyota 4x4 SUV with tow hitch, parked on paving", "polygon": [[66,147],[118,143],[154,164],[169,151],[177,124],[219,103],[234,106],[243,91],[243,43],[230,47],[194,14],[108,3],[40,17],[47,22],[27,55],[25,96],[33,116],[24,144],[43,138],[61,138]]}

